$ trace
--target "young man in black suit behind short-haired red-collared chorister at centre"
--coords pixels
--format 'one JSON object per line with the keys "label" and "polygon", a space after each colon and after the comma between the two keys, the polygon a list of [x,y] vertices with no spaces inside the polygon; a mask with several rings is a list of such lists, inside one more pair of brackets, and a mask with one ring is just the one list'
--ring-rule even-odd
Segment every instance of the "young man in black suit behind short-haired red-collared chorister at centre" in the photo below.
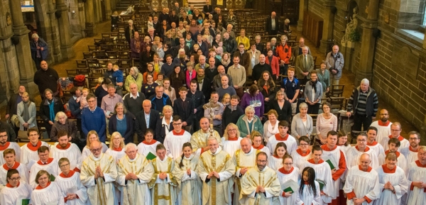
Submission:
{"label": "young man in black suit behind short-haired red-collared chorister at centre", "polygon": [[180,98],[175,100],[173,104],[173,113],[182,118],[182,128],[187,132],[191,132],[192,118],[194,118],[194,102],[187,98],[187,88],[180,87]]}

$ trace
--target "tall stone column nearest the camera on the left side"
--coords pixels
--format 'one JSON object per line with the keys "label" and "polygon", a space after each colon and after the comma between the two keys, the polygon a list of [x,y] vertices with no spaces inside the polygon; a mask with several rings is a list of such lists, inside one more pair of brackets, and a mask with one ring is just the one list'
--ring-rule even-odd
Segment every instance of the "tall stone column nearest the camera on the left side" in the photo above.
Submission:
{"label": "tall stone column nearest the camera on the left side", "polygon": [[[34,79],[34,67],[33,60],[31,59],[30,40],[28,39],[28,28],[23,24],[21,2],[11,0],[11,14],[13,22],[13,33],[19,38],[18,45],[15,45],[18,70],[19,70],[19,84],[23,84],[27,92],[34,96],[38,93],[38,87],[33,82]],[[14,79],[10,79],[14,80]],[[12,88],[11,88],[12,89]],[[17,89],[17,87],[13,87]]]}

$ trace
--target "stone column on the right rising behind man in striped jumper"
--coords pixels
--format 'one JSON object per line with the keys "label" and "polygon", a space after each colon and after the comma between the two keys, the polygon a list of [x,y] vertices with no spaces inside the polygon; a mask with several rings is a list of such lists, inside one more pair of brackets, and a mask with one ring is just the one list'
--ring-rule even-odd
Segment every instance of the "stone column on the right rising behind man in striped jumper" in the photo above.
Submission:
{"label": "stone column on the right rising behind man in striped jumper", "polygon": [[368,79],[370,82],[373,77],[373,57],[376,45],[376,37],[373,37],[373,31],[378,26],[378,0],[371,0],[368,4],[367,18],[363,19],[361,24],[361,52],[359,56],[359,67],[356,70],[354,84],[359,84],[361,79]]}

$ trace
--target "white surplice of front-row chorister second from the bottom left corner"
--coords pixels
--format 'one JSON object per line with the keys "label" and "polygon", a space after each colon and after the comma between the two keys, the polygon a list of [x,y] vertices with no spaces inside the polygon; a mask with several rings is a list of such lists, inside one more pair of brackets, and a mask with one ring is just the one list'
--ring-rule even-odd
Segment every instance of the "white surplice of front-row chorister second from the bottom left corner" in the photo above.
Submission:
{"label": "white surplice of front-row chorister second from the bottom left corner", "polygon": [[31,194],[31,202],[33,205],[43,204],[58,204],[65,205],[64,197],[62,192],[60,192],[60,188],[58,184],[55,182],[49,182],[47,187],[41,188],[40,185],[35,187],[33,193]]}

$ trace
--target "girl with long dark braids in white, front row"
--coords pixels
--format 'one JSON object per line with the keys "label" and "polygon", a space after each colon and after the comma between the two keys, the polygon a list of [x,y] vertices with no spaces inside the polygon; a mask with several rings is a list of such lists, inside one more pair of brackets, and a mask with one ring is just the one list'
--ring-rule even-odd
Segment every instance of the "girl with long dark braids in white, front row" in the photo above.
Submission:
{"label": "girl with long dark braids in white, front row", "polygon": [[315,170],[312,167],[305,167],[300,180],[300,200],[303,204],[322,204],[320,192],[320,184],[315,181]]}

